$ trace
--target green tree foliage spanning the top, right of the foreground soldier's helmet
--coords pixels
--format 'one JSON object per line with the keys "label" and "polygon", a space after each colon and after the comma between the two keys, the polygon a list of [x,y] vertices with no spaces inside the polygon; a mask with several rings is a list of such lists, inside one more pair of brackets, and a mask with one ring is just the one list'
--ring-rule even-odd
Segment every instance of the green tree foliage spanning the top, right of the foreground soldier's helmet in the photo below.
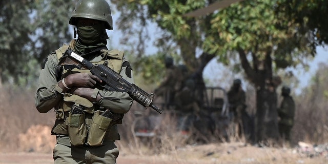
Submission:
{"label": "green tree foliage spanning the top, right of the foreground soldier's helmet", "polygon": [[[119,25],[125,25],[125,21],[133,19],[155,23],[164,31],[162,37],[155,39],[155,42],[161,43],[156,44],[158,48],[176,49],[175,52],[191,71],[203,69],[199,67],[206,65],[214,56],[221,63],[229,65],[231,59],[239,59],[236,52],[241,51],[247,54],[250,62],[248,65],[254,70],[258,69],[254,62],[261,62],[270,55],[272,64],[268,63],[268,67],[272,66],[270,69],[277,71],[279,68],[304,64],[303,58],[315,51],[310,47],[310,40],[299,34],[298,26],[283,19],[286,13],[277,12],[277,0],[243,1],[199,17],[186,17],[183,14],[206,6],[208,1],[145,0],[112,3],[125,13],[119,18]],[[147,25],[149,24],[142,24]],[[120,27],[125,32],[132,28]],[[142,35],[146,36],[145,33]],[[147,39],[140,37],[139,43],[145,40]],[[196,53],[199,50],[203,52],[202,55],[212,57],[202,60],[202,55]],[[138,53],[138,56],[142,56],[142,53]],[[241,65],[236,63],[238,64]]]}

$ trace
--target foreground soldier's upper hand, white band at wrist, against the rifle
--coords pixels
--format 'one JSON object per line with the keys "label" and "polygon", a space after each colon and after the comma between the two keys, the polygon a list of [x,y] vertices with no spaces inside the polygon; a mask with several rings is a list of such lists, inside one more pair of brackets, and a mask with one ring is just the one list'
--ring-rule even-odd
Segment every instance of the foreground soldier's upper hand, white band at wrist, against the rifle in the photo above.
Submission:
{"label": "foreground soldier's upper hand, white band at wrist, against the rifle", "polygon": [[100,78],[89,73],[74,73],[65,77],[67,87],[94,88],[97,83],[101,83]]}

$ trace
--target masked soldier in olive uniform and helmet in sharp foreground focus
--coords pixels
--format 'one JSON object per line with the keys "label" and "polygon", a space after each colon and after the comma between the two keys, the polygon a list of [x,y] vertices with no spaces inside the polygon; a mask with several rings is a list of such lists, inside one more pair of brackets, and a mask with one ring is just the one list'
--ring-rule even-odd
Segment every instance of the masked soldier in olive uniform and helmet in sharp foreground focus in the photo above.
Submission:
{"label": "masked soldier in olive uniform and helmet in sharp foreground focus", "polygon": [[[112,21],[105,0],[78,1],[69,20],[77,39],[51,53],[40,71],[35,106],[40,113],[55,110],[51,130],[57,141],[54,163],[116,163],[119,151],[115,140],[120,139],[117,124],[129,112],[133,99],[128,93],[104,89],[88,69],[65,70],[58,66],[59,58],[70,48],[93,64],[115,70],[132,84],[132,70],[124,52],[106,46],[106,29],[113,29]],[[116,121],[101,115],[107,109],[118,118]]]}

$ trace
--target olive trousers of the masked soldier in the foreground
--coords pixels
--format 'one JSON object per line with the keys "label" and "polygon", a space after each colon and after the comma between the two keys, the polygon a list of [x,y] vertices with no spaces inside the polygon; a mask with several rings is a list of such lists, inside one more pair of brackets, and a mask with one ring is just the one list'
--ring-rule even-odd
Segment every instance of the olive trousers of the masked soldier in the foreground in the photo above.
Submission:
{"label": "olive trousers of the masked soldier in the foreground", "polygon": [[118,148],[114,141],[106,143],[104,146],[66,146],[56,144],[53,149],[54,163],[105,163],[116,164]]}

